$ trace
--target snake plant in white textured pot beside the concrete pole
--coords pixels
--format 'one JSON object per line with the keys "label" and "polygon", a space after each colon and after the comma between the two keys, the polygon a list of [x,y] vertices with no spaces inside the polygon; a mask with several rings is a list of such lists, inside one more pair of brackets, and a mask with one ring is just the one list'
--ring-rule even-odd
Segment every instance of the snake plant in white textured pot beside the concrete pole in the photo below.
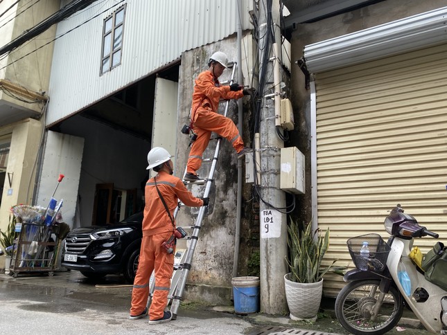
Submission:
{"label": "snake plant in white textured pot beside the concrete pole", "polygon": [[329,229],[322,237],[319,230],[312,230],[312,224],[299,228],[290,220],[288,226],[288,246],[290,273],[284,276],[286,299],[292,320],[317,320],[322,299],[323,275],[333,269],[331,265],[322,267],[324,254],[329,246]]}

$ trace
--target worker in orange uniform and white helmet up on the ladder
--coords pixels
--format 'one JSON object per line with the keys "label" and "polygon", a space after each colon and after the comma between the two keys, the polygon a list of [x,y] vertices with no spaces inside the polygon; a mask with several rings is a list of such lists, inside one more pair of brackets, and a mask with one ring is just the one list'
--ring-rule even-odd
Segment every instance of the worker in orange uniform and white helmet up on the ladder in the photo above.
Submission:
{"label": "worker in orange uniform and white helmet up on the ladder", "polygon": [[228,59],[225,53],[218,51],[209,58],[209,69],[203,71],[195,80],[193,92],[193,104],[191,111],[191,129],[197,134],[193,142],[186,165],[185,181],[197,181],[200,165],[202,165],[202,154],[207,149],[211,132],[227,138],[242,158],[250,149],[244,147],[238,128],[233,121],[218,114],[219,101],[221,99],[239,99],[250,94],[239,84],[220,86],[218,78],[227,67]]}

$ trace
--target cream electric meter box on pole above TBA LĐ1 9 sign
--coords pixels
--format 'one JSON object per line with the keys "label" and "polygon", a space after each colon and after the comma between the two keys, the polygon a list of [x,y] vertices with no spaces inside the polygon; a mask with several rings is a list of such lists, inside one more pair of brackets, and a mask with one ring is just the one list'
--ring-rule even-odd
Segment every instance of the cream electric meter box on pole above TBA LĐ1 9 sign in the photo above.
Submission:
{"label": "cream electric meter box on pole above TBA L\u01101 9 sign", "polygon": [[304,154],[297,147],[281,148],[281,172],[279,187],[289,193],[304,194],[306,191]]}

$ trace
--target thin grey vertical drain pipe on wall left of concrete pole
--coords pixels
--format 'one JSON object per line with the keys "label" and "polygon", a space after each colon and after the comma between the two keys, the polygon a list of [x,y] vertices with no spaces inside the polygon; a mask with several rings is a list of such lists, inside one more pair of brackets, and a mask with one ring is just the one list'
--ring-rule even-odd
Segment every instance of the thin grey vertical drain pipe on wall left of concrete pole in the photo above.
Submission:
{"label": "thin grey vertical drain pipe on wall left of concrete pole", "polygon": [[[238,47],[238,80],[242,80],[242,26],[240,26],[240,12],[242,11],[242,6],[240,0],[237,0],[236,6],[236,21],[237,21],[237,47]],[[242,136],[243,128],[243,108],[242,99],[238,99],[238,130],[240,136]],[[237,202],[236,202],[236,232],[234,233],[234,260],[233,260],[233,278],[238,276],[238,264],[239,264],[239,244],[240,244],[240,219],[242,211],[242,179],[243,179],[243,162],[245,160],[238,159],[238,192],[237,192]],[[231,289],[231,298],[233,297],[233,290]]]}

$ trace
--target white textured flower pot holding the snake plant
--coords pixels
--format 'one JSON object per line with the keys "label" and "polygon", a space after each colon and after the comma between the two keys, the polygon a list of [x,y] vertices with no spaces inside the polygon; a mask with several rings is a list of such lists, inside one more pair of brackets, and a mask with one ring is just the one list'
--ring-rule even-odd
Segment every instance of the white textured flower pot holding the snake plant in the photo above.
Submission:
{"label": "white textured flower pot holding the snake plant", "polygon": [[292,320],[317,320],[320,302],[322,301],[323,280],[319,282],[292,282],[284,275],[287,305]]}

